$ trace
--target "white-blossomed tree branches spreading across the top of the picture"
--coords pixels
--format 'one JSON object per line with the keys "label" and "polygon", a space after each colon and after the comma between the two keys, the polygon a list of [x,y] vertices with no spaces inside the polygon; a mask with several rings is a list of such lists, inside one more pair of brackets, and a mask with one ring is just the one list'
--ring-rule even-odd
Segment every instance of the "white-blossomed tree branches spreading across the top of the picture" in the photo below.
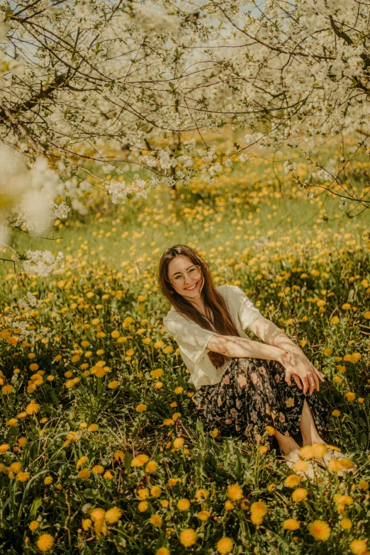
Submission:
{"label": "white-blossomed tree branches spreading across the top of the picture", "polygon": [[[86,211],[86,161],[106,173],[120,172],[121,162],[147,169],[147,179],[135,174],[129,183],[100,177],[113,202],[125,202],[163,181],[189,183],[194,155],[212,179],[245,161],[256,144],[298,150],[311,164],[310,179],[302,182],[290,160],[286,171],[300,186],[319,186],[365,210],[369,176],[361,176],[364,187],[355,194],[347,166],[370,149],[369,6],[357,0],[6,0],[0,138],[23,153],[30,172],[49,172],[50,210],[62,195]],[[225,126],[245,136],[218,159],[205,131]],[[185,140],[186,132],[198,144]],[[320,149],[332,138],[339,155],[320,162]],[[15,204],[23,206],[24,223],[29,203]],[[67,204],[59,210],[67,215]]]}

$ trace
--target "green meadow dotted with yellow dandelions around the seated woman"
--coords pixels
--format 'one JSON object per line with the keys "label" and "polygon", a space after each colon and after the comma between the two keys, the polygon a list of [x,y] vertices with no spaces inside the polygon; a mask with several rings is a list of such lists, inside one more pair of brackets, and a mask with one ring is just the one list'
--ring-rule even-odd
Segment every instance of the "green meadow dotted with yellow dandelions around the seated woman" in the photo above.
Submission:
{"label": "green meadow dotted with yellow dandelions around the seated woman", "polygon": [[[176,195],[153,189],[123,206],[99,195],[94,213],[37,240],[65,253],[60,273],[1,262],[1,553],[369,554],[368,211],[349,218],[361,207],[259,157]],[[14,231],[14,248],[28,241]],[[323,371],[330,439],[354,474],[332,466],[311,483],[274,449],[191,417],[157,283],[177,243]]]}

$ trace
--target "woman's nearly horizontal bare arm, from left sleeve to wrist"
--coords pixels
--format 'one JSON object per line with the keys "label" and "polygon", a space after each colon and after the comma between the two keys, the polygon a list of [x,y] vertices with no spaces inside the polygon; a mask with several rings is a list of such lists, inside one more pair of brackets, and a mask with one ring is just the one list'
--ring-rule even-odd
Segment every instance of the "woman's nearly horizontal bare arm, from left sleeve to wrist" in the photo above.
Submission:
{"label": "woman's nearly horizontal bare arm, from left sleeve to wrist", "polygon": [[256,358],[281,362],[284,350],[234,335],[213,335],[206,346],[208,351],[231,358]]}

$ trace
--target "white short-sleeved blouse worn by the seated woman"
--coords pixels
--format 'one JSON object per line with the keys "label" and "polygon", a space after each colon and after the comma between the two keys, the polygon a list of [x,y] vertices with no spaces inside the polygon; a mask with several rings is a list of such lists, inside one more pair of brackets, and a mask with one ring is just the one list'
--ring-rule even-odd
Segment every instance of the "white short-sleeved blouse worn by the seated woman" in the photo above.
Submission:
{"label": "white short-sleeved blouse worn by the seated woman", "polygon": [[[228,313],[240,337],[250,339],[244,330],[257,318],[263,318],[258,308],[236,285],[223,284],[217,286],[216,290],[225,299]],[[191,374],[189,383],[192,383],[196,389],[218,383],[226,367],[230,364],[230,360],[227,360],[223,366],[217,369],[207,356],[210,349],[206,349],[206,345],[213,335],[218,334],[211,330],[205,330],[197,323],[188,320],[173,306],[167,316],[164,316],[163,323],[179,345],[181,358]]]}

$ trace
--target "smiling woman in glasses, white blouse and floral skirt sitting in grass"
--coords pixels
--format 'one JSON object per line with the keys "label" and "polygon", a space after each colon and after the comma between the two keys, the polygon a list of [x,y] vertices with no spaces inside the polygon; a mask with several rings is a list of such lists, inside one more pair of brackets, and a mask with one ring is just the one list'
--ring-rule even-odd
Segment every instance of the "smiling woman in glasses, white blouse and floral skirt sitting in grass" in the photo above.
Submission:
{"label": "smiling woman in glasses, white blouse and floral skirt sitting in grass", "polygon": [[[323,374],[242,289],[215,287],[208,264],[190,247],[162,254],[159,285],[172,305],[163,323],[190,371],[198,418],[208,429],[245,433],[257,443],[275,437],[286,464],[312,478],[311,463],[295,466],[296,439],[301,432],[303,446],[326,443],[327,411],[318,396]],[[248,339],[247,327],[264,343]],[[344,458],[332,449],[323,447],[315,462]]]}

